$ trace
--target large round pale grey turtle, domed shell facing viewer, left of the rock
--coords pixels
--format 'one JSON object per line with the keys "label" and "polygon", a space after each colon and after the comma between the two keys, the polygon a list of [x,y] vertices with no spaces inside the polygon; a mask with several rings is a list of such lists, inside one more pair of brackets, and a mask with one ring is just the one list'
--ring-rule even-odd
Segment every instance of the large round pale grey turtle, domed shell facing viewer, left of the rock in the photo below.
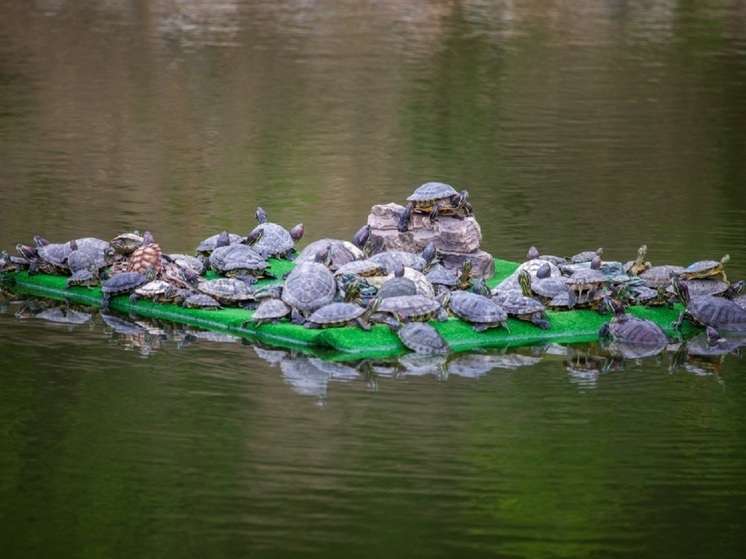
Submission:
{"label": "large round pale grey turtle, domed shell facing viewer, left of the rock", "polygon": [[293,309],[293,322],[301,323],[316,309],[328,305],[337,293],[337,282],[321,262],[329,255],[329,246],[319,251],[315,262],[296,266],[285,278],[282,300]]}

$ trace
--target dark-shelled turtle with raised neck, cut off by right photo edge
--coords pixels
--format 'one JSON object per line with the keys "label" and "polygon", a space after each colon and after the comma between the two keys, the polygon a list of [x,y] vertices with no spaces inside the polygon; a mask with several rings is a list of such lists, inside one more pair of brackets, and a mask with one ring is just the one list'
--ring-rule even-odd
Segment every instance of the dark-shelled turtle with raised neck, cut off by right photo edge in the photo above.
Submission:
{"label": "dark-shelled turtle with raised neck, cut off by right photo edge", "polygon": [[710,326],[716,332],[746,332],[746,310],[737,303],[714,295],[690,298],[686,284],[679,277],[673,278],[673,286],[679,300],[686,307],[674,322],[676,329],[681,328],[685,319],[689,319],[695,325]]}

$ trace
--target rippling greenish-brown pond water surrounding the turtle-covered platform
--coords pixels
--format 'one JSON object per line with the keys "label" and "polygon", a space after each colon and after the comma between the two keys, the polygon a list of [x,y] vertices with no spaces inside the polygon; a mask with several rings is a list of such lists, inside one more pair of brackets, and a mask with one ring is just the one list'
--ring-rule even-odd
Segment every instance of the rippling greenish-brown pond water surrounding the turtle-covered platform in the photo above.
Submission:
{"label": "rippling greenish-brown pond water surrounding the turtle-covered platform", "polygon": [[[746,277],[742,2],[3,4],[0,248],[350,238],[439,180],[499,258]],[[0,307],[10,557],[741,556],[737,350],[330,363],[39,310]]]}

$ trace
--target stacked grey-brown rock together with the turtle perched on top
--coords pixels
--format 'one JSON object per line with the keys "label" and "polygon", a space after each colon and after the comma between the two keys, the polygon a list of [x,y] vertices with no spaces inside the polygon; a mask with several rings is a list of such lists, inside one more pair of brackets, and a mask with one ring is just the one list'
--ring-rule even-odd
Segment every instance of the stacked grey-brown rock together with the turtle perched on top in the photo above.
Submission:
{"label": "stacked grey-brown rock together with the turtle perched on top", "polygon": [[366,252],[420,253],[432,241],[447,268],[461,269],[471,260],[473,278],[494,275],[494,258],[479,248],[482,230],[465,190],[459,193],[445,183],[428,182],[407,201],[406,208],[395,203],[373,206],[368,216]]}

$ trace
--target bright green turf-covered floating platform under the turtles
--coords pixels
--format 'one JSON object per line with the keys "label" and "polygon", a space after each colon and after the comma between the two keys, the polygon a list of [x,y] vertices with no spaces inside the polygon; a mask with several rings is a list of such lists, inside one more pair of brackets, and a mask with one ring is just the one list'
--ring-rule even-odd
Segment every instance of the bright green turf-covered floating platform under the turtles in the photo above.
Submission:
{"label": "bright green turf-covered floating platform under the turtles", "polygon": [[[271,269],[278,277],[290,271],[292,267],[293,264],[290,262],[271,260]],[[518,264],[515,262],[496,259],[495,276],[487,282],[488,285],[494,287],[513,273],[517,267]],[[100,287],[73,286],[66,289],[66,277],[16,272],[6,274],[3,281],[6,288],[19,294],[87,306],[101,306]],[[278,280],[274,280],[276,281]],[[273,281],[261,280],[257,286],[270,283]],[[144,300],[132,303],[128,296],[112,298],[109,306],[123,313],[134,313],[143,317],[229,333],[271,346],[293,348],[327,356],[330,353],[337,354],[338,359],[380,358],[396,356],[408,351],[398,336],[384,325],[375,325],[369,332],[357,327],[306,329],[288,321],[243,328],[242,324],[251,319],[253,311],[238,308],[224,308],[216,311],[185,309],[172,304],[155,304]],[[628,312],[656,322],[672,338],[675,338],[676,332],[671,328],[671,323],[678,318],[682,310],[683,306],[676,304],[673,309],[632,307]],[[508,319],[509,331],[505,328],[492,328],[478,333],[469,324],[456,318],[449,318],[446,322],[432,322],[432,324],[454,351],[467,351],[475,348],[504,348],[546,342],[562,344],[592,342],[598,339],[599,328],[610,318],[608,315],[601,316],[590,310],[549,311],[548,315],[552,325],[549,330],[541,330],[531,323],[512,318]]]}

